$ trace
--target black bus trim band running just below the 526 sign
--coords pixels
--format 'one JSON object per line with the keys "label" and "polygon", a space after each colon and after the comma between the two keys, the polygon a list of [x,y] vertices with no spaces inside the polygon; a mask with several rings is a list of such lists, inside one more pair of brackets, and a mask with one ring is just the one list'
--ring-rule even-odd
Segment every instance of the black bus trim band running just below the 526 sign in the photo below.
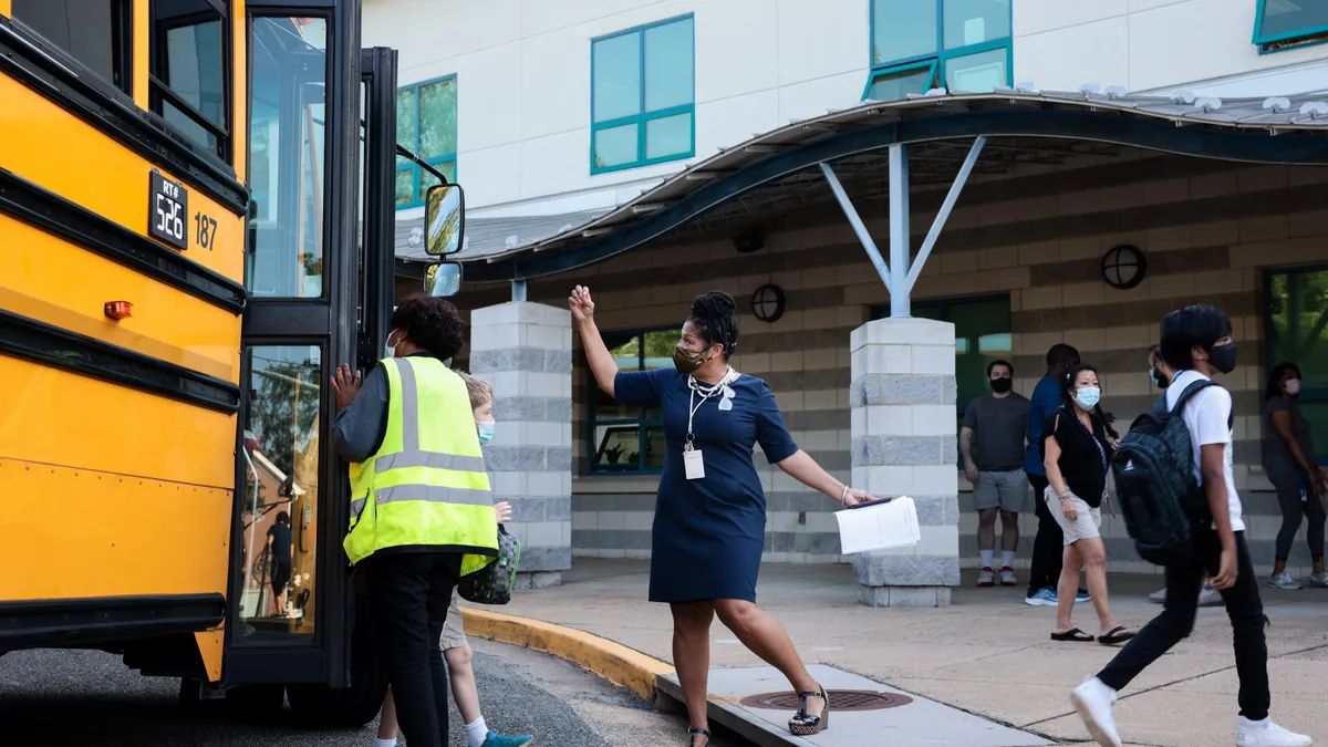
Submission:
{"label": "black bus trim band running just below the 526 sign", "polygon": [[239,315],[248,292],[174,249],[0,167],[0,213]]}

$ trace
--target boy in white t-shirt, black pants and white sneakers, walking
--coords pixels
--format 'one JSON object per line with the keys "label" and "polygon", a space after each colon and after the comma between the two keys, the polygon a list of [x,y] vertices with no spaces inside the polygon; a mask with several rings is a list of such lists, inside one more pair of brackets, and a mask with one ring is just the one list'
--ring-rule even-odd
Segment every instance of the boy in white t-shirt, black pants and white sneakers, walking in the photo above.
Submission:
{"label": "boy in white t-shirt, black pants and white sneakers, walking", "polygon": [[[1166,391],[1167,407],[1175,407],[1181,392],[1190,384],[1235,368],[1231,320],[1222,310],[1207,304],[1173,311],[1162,319],[1161,354],[1177,370]],[[1199,585],[1207,572],[1212,574],[1212,587],[1222,593],[1227,617],[1231,618],[1240,679],[1238,747],[1307,747],[1313,744],[1311,738],[1283,728],[1268,718],[1271,695],[1268,646],[1263,633],[1266,618],[1240,520],[1240,496],[1231,479],[1231,393],[1222,387],[1199,389],[1186,403],[1182,417],[1190,429],[1194,476],[1203,486],[1212,524],[1194,528],[1195,553],[1189,562],[1167,566],[1167,598],[1162,614],[1143,626],[1097,677],[1076,687],[1070,702],[1098,744],[1121,747],[1112,715],[1116,694],[1190,634]]]}

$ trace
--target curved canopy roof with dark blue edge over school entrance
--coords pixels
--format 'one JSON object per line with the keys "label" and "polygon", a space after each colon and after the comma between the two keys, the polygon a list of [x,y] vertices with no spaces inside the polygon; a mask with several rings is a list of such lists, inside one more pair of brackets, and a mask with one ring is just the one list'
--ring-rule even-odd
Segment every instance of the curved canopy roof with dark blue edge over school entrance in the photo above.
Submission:
{"label": "curved canopy roof with dark blue edge over school entrance", "polygon": [[[911,144],[914,186],[948,183],[975,137],[989,140],[979,173],[1056,163],[1121,146],[1270,165],[1328,165],[1328,102],[1313,97],[1218,100],[1038,92],[930,92],[790,121],[722,148],[615,210],[525,243],[469,246],[467,280],[515,280],[600,262],[665,234],[714,230],[831,199],[817,165],[882,183],[887,146]],[[878,187],[879,191],[879,187]],[[467,242],[469,243],[469,242]]]}

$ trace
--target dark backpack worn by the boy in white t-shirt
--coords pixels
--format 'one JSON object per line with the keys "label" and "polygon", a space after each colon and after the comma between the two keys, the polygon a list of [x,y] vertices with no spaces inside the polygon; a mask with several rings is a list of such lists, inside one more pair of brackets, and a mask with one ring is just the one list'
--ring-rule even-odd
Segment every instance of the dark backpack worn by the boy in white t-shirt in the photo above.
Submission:
{"label": "dark backpack worn by the boy in white t-shirt", "polygon": [[1170,411],[1163,395],[1130,424],[1112,457],[1125,529],[1139,557],[1154,565],[1193,558],[1193,528],[1211,518],[1194,479],[1194,449],[1181,412],[1199,389],[1215,385],[1211,380],[1190,383]]}

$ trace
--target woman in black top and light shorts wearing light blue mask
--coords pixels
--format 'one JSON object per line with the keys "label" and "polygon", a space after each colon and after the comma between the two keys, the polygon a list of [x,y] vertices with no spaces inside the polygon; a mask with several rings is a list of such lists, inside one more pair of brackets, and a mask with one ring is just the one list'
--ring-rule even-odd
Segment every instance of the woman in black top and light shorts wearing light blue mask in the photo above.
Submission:
{"label": "woman in black top and light shorts wearing light blue mask", "polygon": [[1106,469],[1118,436],[1098,405],[1102,389],[1097,370],[1088,364],[1070,368],[1060,408],[1046,419],[1042,465],[1048,486],[1046,508],[1061,525],[1065,557],[1057,587],[1053,641],[1094,638],[1070,623],[1080,570],[1088,566],[1088,590],[1101,623],[1097,641],[1108,646],[1123,643],[1134,633],[1120,625],[1106,601],[1106,546],[1098,533],[1102,525],[1102,498],[1106,497]]}

